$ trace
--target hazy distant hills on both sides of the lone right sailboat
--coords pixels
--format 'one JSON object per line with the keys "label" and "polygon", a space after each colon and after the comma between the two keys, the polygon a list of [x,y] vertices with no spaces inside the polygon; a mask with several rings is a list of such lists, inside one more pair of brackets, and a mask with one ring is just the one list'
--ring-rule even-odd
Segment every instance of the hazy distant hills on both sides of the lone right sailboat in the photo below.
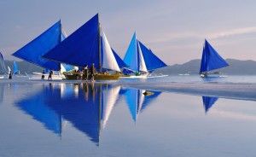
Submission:
{"label": "hazy distant hills on both sides of the lone right sailboat", "polygon": [[[230,66],[221,68],[219,71],[228,74],[238,75],[255,75],[256,74],[256,61],[247,60],[240,61],[234,59],[226,60]],[[155,73],[164,74],[178,74],[178,73],[199,73],[201,60],[195,59],[188,61],[182,65],[175,64],[170,67],[163,67],[155,71]]]}

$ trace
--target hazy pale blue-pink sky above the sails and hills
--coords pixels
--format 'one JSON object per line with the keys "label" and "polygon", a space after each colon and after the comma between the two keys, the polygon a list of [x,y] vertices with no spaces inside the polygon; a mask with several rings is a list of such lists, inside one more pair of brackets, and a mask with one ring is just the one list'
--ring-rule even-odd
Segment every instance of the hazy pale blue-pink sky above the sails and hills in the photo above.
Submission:
{"label": "hazy pale blue-pink sky above the sails and hills", "polygon": [[255,0],[1,0],[5,59],[61,19],[67,36],[99,13],[108,42],[125,56],[133,33],[168,65],[201,58],[204,39],[226,58],[256,61]]}

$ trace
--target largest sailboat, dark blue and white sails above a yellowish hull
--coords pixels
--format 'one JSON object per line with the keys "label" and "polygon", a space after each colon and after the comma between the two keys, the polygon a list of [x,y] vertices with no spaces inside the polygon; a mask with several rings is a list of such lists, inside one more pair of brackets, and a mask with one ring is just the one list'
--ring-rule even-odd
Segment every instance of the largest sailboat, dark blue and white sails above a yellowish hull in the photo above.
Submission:
{"label": "largest sailboat, dark blue and white sails above a yellowish hull", "polygon": [[[59,55],[60,53],[61,55]],[[61,44],[43,55],[43,57],[51,61],[65,62],[81,68],[85,65],[90,67],[94,64],[99,72],[94,77],[95,80],[113,80],[118,79],[120,76],[119,64],[108,44],[105,33],[102,31],[98,14],[73,32]],[[118,73],[101,74],[103,69]],[[80,73],[64,74],[67,79],[76,79],[75,74]]]}

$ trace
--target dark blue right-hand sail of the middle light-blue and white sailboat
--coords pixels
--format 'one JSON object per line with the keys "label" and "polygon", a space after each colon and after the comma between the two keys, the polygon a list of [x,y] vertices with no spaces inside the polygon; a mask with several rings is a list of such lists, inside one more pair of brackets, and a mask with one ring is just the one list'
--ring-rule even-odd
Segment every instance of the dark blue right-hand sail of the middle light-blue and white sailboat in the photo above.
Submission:
{"label": "dark blue right-hand sail of the middle light-blue and white sailboat", "polygon": [[154,53],[152,52],[151,49],[148,49],[140,41],[138,41],[138,42],[142,49],[144,61],[146,63],[146,67],[147,67],[148,71],[153,71],[154,69],[157,69],[160,67],[167,67],[166,63],[164,61],[161,61],[159,57],[154,55]]}

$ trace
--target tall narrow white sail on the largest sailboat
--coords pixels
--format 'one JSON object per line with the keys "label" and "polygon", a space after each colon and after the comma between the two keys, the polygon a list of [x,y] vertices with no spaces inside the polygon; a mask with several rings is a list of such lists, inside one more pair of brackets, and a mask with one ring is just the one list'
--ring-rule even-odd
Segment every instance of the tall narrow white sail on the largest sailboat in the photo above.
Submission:
{"label": "tall narrow white sail on the largest sailboat", "polygon": [[103,62],[102,67],[120,72],[119,65],[114,58],[113,51],[108,44],[108,39],[104,32],[102,32],[102,49],[103,49]]}

